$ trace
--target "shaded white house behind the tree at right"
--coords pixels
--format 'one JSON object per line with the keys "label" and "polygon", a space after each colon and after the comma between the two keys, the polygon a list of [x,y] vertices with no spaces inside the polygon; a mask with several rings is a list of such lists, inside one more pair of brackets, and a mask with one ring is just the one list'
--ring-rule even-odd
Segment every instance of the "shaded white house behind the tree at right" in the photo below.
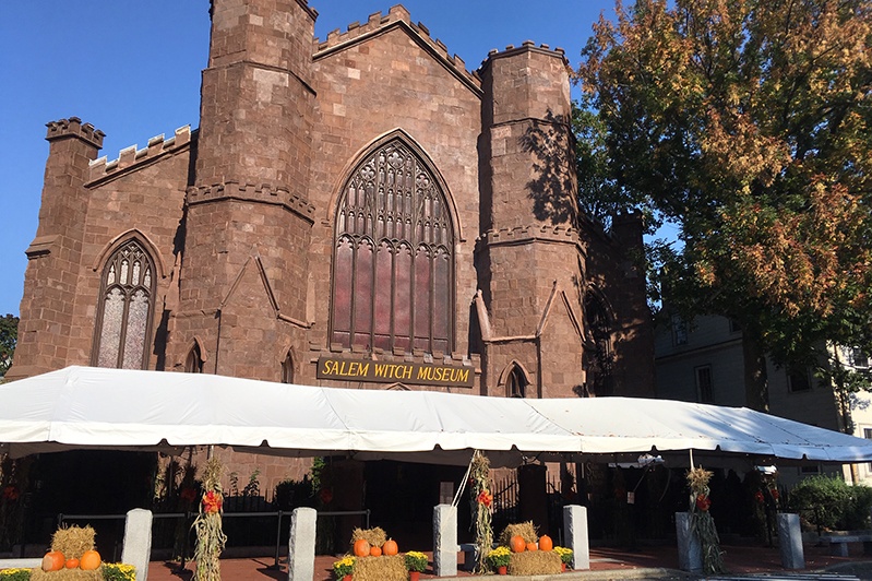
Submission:
{"label": "shaded white house behind the tree at right", "polygon": [[[673,317],[670,324],[660,324],[655,332],[655,391],[658,398],[716,405],[744,406],[744,358],[742,330],[726,317],[698,317],[688,323]],[[843,365],[867,368],[869,360],[860,351],[838,348]],[[767,364],[769,411],[772,414],[844,431],[845,415],[833,387],[814,377],[809,368],[789,369]],[[850,417],[853,435],[872,439],[872,394],[861,393],[851,399]],[[856,465],[858,482],[872,484],[872,465]],[[781,467],[779,475],[786,484],[824,466]],[[850,466],[845,466],[848,482]]]}

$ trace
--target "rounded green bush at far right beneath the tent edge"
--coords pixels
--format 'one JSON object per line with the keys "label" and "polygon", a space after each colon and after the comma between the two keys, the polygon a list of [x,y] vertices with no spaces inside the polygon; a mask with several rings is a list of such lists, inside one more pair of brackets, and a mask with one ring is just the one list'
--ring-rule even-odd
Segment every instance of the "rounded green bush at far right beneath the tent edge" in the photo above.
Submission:
{"label": "rounded green bush at far right beneath the tent edge", "polygon": [[839,477],[812,476],[790,491],[788,506],[814,529],[868,529],[872,488],[849,486]]}

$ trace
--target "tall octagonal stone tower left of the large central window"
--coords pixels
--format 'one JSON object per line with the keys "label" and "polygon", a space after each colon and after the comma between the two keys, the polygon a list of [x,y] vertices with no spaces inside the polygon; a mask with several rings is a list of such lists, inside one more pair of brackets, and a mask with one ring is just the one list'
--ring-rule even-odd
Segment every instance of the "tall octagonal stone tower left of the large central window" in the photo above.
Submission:
{"label": "tall octagonal stone tower left of the large central window", "polygon": [[213,0],[211,14],[174,366],[199,356],[206,372],[275,380],[282,355],[264,340],[287,349],[309,324],[316,12],[304,0]]}

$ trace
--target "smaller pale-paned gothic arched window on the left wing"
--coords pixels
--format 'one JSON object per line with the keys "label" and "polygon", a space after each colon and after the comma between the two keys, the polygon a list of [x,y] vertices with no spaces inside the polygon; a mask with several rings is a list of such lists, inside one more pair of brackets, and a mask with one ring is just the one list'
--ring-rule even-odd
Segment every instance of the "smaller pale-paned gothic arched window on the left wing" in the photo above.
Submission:
{"label": "smaller pale-paned gothic arched window on the left wing", "polygon": [[116,250],[103,269],[97,312],[97,367],[145,369],[154,318],[154,261],[135,239]]}

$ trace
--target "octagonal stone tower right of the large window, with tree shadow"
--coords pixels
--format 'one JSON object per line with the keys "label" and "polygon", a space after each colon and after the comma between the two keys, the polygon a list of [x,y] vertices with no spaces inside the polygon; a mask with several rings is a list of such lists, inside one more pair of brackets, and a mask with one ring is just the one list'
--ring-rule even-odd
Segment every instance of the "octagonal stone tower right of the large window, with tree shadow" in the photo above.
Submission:
{"label": "octagonal stone tower right of the large window, with tree shadow", "polygon": [[562,50],[526,42],[492,51],[479,72],[482,383],[495,395],[570,396],[584,380],[584,248],[569,66]]}

